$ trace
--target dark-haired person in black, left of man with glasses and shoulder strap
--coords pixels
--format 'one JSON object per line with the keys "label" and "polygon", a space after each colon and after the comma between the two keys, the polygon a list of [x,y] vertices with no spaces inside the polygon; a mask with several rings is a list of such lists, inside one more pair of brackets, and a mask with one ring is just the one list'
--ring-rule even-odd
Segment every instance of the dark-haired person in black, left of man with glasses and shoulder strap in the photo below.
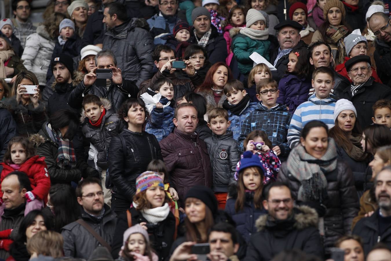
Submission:
{"label": "dark-haired person in black, left of man with glasses and shoulder strap", "polygon": [[52,185],[46,205],[54,215],[54,231],[61,232],[62,227],[79,218],[80,206],[77,203],[75,189],[68,184]]}

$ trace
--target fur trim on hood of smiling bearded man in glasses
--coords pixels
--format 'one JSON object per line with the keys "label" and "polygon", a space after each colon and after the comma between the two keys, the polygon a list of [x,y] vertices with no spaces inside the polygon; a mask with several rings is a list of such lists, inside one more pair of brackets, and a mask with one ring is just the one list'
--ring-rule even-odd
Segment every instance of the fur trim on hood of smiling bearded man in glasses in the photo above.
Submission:
{"label": "fur trim on hood of smiling bearded man in glasses", "polygon": [[[318,215],[316,211],[307,206],[294,207],[294,225],[293,227],[298,230],[305,229],[307,227],[317,227]],[[260,216],[255,222],[255,227],[258,232],[267,228],[267,218],[269,214]]]}

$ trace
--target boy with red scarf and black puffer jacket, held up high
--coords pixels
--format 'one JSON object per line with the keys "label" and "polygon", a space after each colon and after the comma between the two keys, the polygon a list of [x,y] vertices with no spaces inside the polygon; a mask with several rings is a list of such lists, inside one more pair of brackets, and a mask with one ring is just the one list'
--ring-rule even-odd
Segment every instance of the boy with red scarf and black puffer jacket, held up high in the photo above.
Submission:
{"label": "boy with red scarf and black puffer jacket, held up high", "polygon": [[88,164],[102,171],[102,187],[104,188],[104,202],[111,200],[110,189],[105,189],[106,170],[108,169],[107,150],[111,138],[118,135],[124,128],[118,114],[114,113],[111,103],[105,98],[87,94],[83,99],[83,112],[81,117],[83,135],[90,142],[88,151]]}

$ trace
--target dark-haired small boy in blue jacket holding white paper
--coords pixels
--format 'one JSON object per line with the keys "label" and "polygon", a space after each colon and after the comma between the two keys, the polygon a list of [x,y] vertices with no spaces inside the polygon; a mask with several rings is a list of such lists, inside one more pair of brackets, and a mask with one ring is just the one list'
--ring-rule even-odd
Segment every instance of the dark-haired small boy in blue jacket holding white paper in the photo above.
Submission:
{"label": "dark-haired small boy in blue jacket holding white paper", "polygon": [[[167,137],[174,130],[174,86],[168,78],[159,78],[154,85],[153,92],[140,95],[143,100],[147,96],[161,94],[161,99],[149,113],[151,114],[145,126],[145,131],[155,135],[158,141]],[[170,102],[168,106],[167,105]]]}

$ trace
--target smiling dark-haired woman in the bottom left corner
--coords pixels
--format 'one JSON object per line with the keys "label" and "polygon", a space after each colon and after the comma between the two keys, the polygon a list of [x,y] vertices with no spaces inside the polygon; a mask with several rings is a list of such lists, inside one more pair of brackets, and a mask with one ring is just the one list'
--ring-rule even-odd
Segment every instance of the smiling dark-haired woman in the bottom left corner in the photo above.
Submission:
{"label": "smiling dark-haired woman in the bottom left corner", "polygon": [[52,223],[48,213],[45,210],[33,210],[27,214],[19,230],[15,235],[14,243],[11,245],[9,254],[16,261],[27,261],[30,259],[30,254],[27,252],[26,244],[29,240],[42,230],[52,229]]}

